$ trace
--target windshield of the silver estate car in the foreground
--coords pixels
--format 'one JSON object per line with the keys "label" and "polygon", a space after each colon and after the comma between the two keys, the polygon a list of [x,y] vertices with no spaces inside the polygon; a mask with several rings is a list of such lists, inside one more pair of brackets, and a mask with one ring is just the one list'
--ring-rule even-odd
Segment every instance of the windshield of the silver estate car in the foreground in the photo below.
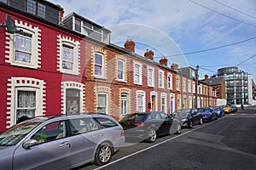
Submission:
{"label": "windshield of the silver estate car in the foreground", "polygon": [[23,139],[27,133],[30,133],[34,127],[37,127],[40,122],[21,122],[8,130],[0,133],[0,146],[15,145]]}

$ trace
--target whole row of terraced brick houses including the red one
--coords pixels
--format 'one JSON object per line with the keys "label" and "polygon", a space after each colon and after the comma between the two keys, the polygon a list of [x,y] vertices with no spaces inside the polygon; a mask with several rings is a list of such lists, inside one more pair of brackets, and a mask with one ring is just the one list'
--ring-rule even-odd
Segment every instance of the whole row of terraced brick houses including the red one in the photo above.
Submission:
{"label": "whole row of terraced brick houses including the red one", "polygon": [[216,88],[197,83],[195,68],[156,62],[152,50],[136,54],[131,39],[116,46],[108,29],[63,13],[44,0],[0,0],[0,22],[8,14],[18,30],[0,28],[0,131],[22,116],[100,112],[119,120],[216,105]]}

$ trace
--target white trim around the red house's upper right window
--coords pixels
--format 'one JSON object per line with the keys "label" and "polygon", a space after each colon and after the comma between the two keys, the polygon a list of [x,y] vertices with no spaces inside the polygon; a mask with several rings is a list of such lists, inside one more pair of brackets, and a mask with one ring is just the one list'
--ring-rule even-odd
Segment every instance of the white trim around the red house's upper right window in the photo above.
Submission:
{"label": "white trim around the red house's upper right window", "polygon": [[[73,48],[73,70],[62,68],[63,63],[63,44]],[[80,42],[70,37],[57,36],[57,71],[62,73],[79,75],[80,73]]]}

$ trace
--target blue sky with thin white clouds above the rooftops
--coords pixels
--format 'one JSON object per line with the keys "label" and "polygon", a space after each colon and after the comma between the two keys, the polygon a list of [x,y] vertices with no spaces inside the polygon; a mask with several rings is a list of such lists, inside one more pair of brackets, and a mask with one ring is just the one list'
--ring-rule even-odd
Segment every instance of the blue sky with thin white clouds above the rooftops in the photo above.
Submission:
{"label": "blue sky with thin white clouds above the rooftops", "polygon": [[168,66],[199,65],[199,76],[237,66],[256,78],[255,0],[49,0],[111,31],[111,42],[136,43]]}

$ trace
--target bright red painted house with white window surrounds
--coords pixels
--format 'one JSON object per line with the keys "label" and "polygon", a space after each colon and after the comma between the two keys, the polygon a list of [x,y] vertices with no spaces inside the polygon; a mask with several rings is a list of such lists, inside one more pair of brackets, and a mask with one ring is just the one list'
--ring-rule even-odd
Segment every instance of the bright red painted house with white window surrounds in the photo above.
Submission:
{"label": "bright red painted house with white window surrounds", "polygon": [[[47,10],[46,10],[47,8]],[[0,27],[0,132],[21,116],[84,111],[84,36],[61,26],[48,1],[0,1],[18,32]]]}

